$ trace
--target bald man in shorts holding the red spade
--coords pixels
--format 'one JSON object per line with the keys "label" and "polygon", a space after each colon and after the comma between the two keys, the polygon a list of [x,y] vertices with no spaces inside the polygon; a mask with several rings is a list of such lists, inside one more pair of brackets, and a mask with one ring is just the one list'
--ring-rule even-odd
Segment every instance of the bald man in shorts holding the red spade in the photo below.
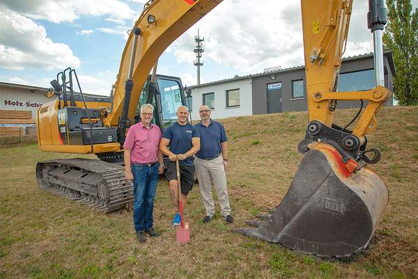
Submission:
{"label": "bald man in shorts holding the red spade", "polygon": [[200,138],[197,129],[187,122],[189,110],[186,106],[179,106],[177,110],[177,122],[174,122],[164,130],[160,141],[160,150],[170,159],[167,164],[167,180],[169,180],[170,198],[176,212],[173,225],[180,225],[178,208],[178,189],[176,159],[180,168],[181,199],[183,207],[186,207],[187,194],[193,186],[194,158],[199,151]]}

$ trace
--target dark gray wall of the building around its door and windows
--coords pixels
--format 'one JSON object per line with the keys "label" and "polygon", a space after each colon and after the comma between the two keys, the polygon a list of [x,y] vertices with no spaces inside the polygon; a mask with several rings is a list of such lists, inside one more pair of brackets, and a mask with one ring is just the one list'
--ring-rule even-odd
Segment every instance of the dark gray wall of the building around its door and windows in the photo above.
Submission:
{"label": "dark gray wall of the building around its door and windows", "polygon": [[[393,60],[392,51],[385,51],[385,86],[393,89]],[[343,59],[340,74],[372,70],[374,68],[373,54],[355,56]],[[274,77],[274,79],[272,79]],[[268,84],[281,82],[281,111],[307,111],[306,88],[304,86],[304,97],[292,99],[292,81],[304,80],[304,67],[294,67],[277,72],[255,75],[252,82],[252,104],[253,114],[268,113]],[[385,103],[391,106],[392,98]],[[364,102],[364,106],[366,102]],[[339,101],[338,108],[357,108],[359,101]]]}

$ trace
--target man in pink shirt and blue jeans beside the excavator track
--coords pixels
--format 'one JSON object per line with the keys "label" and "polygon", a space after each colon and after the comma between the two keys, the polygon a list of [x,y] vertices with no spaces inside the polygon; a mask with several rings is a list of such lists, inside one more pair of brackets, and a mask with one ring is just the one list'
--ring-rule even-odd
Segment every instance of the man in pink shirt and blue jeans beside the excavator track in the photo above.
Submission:
{"label": "man in pink shirt and blue jeans beside the excavator track", "polygon": [[160,127],[151,123],[154,107],[141,106],[141,122],[127,130],[125,143],[125,176],[134,180],[134,228],[139,242],[145,234],[158,237],[153,228],[153,210],[158,174],[164,172],[162,154],[158,150]]}

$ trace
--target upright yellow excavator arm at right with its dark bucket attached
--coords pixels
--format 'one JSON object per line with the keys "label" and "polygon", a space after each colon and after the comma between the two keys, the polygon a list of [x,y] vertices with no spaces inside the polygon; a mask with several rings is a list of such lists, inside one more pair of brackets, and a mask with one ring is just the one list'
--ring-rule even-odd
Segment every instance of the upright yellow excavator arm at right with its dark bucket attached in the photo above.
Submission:
{"label": "upright yellow excavator arm at right with its dark bucket attached", "polygon": [[[389,97],[383,87],[382,0],[369,1],[369,28],[375,42],[376,88],[336,92],[346,48],[352,0],[302,0],[305,81],[309,125],[298,146],[304,154],[293,182],[267,221],[236,232],[325,257],[349,257],[364,249],[389,200],[385,183],[366,166],[366,134],[378,127],[376,114]],[[368,102],[353,131],[333,122],[338,102]],[[352,121],[353,122],[353,121]]]}

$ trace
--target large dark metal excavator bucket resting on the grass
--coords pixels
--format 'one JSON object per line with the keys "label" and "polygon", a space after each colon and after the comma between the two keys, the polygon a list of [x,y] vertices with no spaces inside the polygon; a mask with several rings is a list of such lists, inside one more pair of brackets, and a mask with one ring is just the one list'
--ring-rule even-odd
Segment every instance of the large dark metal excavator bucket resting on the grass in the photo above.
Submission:
{"label": "large dark metal excavator bucket resting on the grass", "polygon": [[335,148],[314,145],[267,220],[235,232],[321,257],[366,248],[389,200],[385,183],[366,167],[350,173]]}

